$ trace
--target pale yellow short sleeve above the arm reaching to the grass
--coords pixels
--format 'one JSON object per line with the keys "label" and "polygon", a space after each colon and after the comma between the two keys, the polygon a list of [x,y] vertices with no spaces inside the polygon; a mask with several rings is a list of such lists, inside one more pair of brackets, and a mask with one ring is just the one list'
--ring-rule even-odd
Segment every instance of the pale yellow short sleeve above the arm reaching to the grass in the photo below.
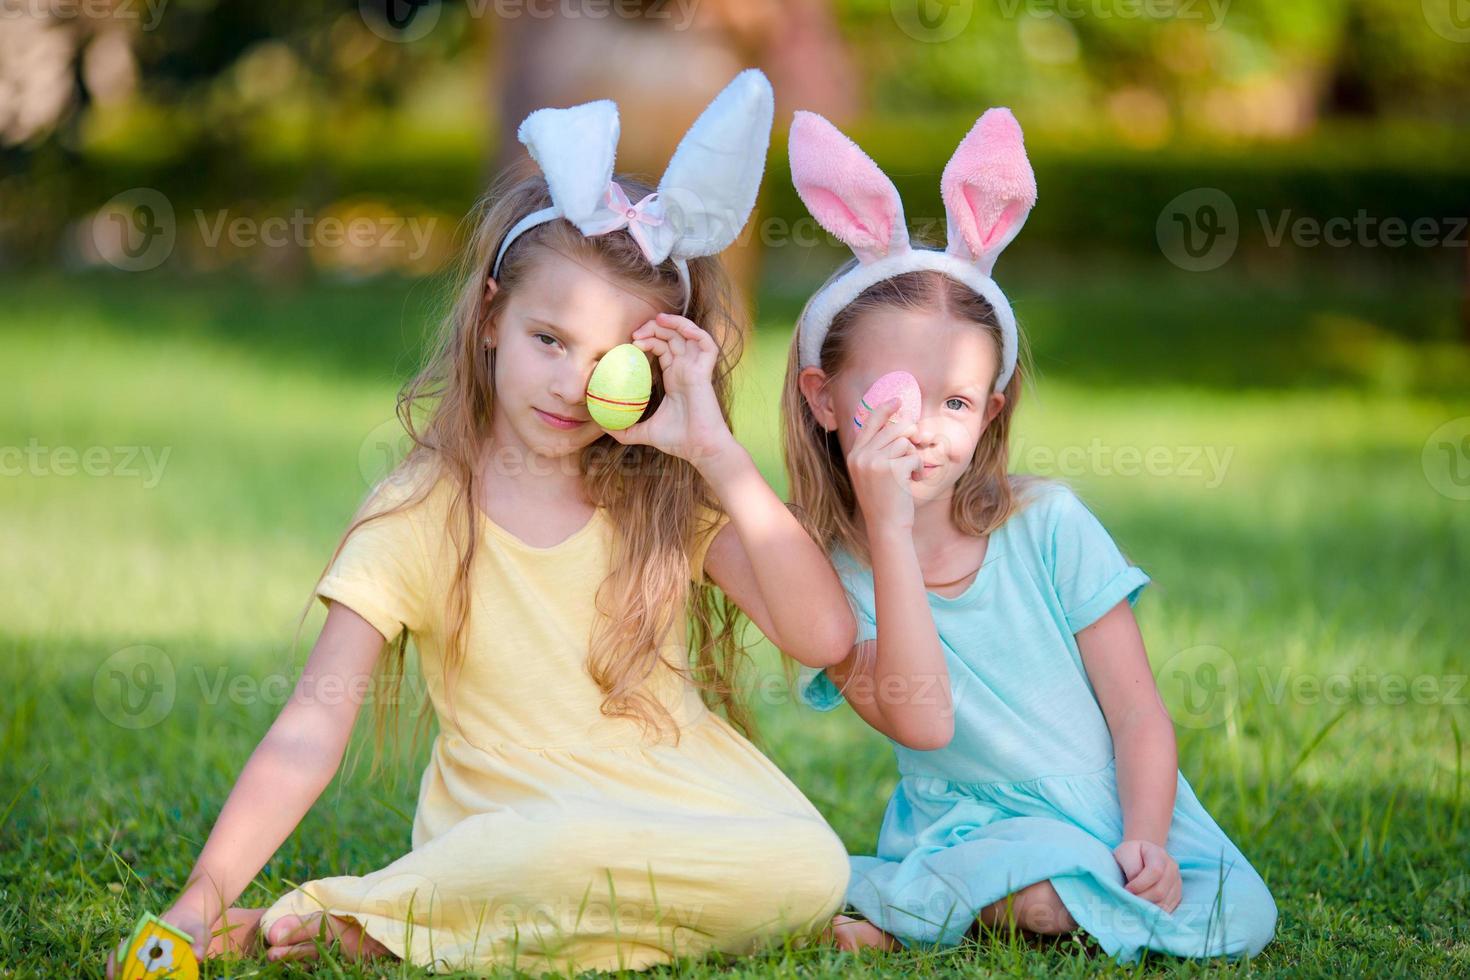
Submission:
{"label": "pale yellow short sleeve above the arm reaching to the grass", "polygon": [[316,586],[323,604],[341,602],[392,642],[404,629],[423,627],[426,608],[426,557],[416,527],[417,508],[404,502],[409,492],[392,478],[379,483],[354,516],[373,514],[357,526]]}

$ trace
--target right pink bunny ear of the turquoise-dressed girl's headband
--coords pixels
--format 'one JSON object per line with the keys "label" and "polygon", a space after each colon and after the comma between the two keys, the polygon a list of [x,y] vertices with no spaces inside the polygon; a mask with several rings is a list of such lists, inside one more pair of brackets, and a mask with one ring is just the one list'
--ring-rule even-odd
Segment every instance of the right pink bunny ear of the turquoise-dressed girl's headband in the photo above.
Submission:
{"label": "right pink bunny ear of the turquoise-dressed girl's headband", "polygon": [[979,118],[944,167],[941,190],[972,254],[1005,244],[1036,203],[1036,175],[1008,109]]}

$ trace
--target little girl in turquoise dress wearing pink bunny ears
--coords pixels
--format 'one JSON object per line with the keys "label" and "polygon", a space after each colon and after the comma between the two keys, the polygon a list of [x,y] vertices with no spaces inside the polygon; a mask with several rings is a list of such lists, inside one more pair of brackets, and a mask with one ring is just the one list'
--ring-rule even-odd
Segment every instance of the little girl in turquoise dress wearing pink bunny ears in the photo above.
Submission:
{"label": "little girl in turquoise dress wearing pink bunny ears", "polygon": [[1007,472],[1019,338],[989,273],[1035,203],[1020,126],[992,109],[950,160],[944,250],[910,244],[892,182],[825,119],[797,113],[789,147],[854,253],[803,310],[782,397],[792,500],[858,620],[801,696],[847,701],[900,771],[838,943],[979,923],[1082,930],[1123,962],[1260,952],[1276,905],[1179,773],[1132,614],[1148,576],[1070,489]]}

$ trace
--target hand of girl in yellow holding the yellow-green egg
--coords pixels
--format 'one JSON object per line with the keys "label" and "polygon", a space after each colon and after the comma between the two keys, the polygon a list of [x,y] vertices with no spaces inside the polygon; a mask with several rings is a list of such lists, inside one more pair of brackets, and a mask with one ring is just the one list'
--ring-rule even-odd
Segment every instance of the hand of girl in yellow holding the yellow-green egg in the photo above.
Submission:
{"label": "hand of girl in yellow holding the yellow-green egg", "polygon": [[[609,429],[609,435],[623,445],[651,445],[695,466],[738,447],[710,383],[719,348],[709,334],[688,317],[660,313],[634,331],[632,345],[659,359],[663,401],[653,417],[625,429]],[[594,381],[598,370],[601,363],[592,370]],[[588,407],[592,404],[589,383]],[[601,419],[598,423],[603,425]]]}

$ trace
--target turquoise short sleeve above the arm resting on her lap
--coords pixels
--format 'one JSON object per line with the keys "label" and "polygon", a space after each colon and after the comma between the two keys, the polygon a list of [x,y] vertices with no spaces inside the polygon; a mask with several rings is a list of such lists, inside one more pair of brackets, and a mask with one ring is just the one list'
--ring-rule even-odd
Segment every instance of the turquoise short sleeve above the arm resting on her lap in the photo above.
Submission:
{"label": "turquoise short sleeve above the arm resting on her lap", "polygon": [[1113,536],[1078,495],[1055,491],[1048,510],[1050,567],[1067,627],[1079,633],[1127,599],[1138,602],[1150,579],[1119,551]]}

